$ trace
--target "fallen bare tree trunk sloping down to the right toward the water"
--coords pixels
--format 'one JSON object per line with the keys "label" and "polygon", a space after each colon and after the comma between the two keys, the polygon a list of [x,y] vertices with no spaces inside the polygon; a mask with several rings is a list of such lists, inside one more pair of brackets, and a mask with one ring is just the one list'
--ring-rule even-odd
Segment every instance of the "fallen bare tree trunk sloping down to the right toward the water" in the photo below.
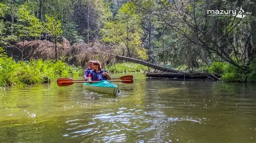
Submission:
{"label": "fallen bare tree trunk sloping down to the right toward the water", "polygon": [[[110,53],[105,53],[105,52],[97,52],[97,53],[110,54]],[[171,72],[171,73],[179,73],[179,72],[181,72],[181,71],[179,71],[177,69],[166,68],[166,67],[159,66],[159,65],[156,65],[156,64],[153,64],[153,63],[150,63],[150,62],[146,62],[146,61],[143,61],[143,60],[138,60],[138,59],[130,58],[130,57],[127,57],[127,56],[121,56],[121,55],[115,55],[115,54],[110,54],[110,55],[115,56],[119,60],[125,60],[125,61],[134,62],[134,63],[139,63],[141,65],[144,65],[144,66],[147,66],[147,67],[150,67],[150,68],[153,68],[153,69],[158,69],[158,70],[161,70],[161,71],[165,71],[165,72]]]}

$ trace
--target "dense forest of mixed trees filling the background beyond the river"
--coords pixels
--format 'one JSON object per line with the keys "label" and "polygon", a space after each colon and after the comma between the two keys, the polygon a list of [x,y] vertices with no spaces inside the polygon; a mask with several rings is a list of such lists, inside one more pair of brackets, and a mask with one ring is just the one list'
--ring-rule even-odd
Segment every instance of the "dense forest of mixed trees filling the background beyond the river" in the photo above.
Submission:
{"label": "dense forest of mixed trees filling the background beyond the river", "polygon": [[[254,1],[0,2],[2,85],[10,84],[5,76],[8,71],[17,69],[10,68],[15,63],[31,66],[38,62],[35,60],[41,65],[42,60],[52,60],[52,64],[59,60],[59,65],[63,62],[85,67],[91,59],[98,59],[105,66],[122,62],[103,53],[95,54],[95,51],[166,68],[205,71],[220,75],[223,81],[256,81]],[[58,75],[71,76],[71,70]]]}

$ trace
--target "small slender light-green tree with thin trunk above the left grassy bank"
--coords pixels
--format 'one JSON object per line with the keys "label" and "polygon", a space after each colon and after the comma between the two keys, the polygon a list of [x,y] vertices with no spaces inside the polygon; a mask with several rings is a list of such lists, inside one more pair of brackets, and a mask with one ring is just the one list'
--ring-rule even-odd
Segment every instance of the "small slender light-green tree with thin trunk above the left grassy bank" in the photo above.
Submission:
{"label": "small slender light-green tree with thin trunk above the left grassy bank", "polygon": [[58,60],[57,54],[57,38],[62,34],[60,20],[45,15],[46,21],[44,22],[45,32],[50,34],[51,41],[55,47],[55,61]]}

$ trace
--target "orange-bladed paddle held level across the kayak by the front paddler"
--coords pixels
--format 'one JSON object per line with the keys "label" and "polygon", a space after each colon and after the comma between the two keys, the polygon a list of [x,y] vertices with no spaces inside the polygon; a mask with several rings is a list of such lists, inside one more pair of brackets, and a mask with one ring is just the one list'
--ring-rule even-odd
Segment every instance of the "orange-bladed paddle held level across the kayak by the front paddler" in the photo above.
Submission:
{"label": "orange-bladed paddle held level across the kayak by the front paddler", "polygon": [[[110,82],[123,82],[123,83],[127,83],[127,84],[132,84],[133,80],[132,78],[123,78],[124,80],[122,81],[110,81]],[[73,83],[87,83],[89,81],[74,81],[71,78],[58,78],[57,80],[57,84],[60,87],[65,87],[65,86],[69,86],[72,85]],[[94,82],[99,82],[99,81],[92,81],[92,83]]]}

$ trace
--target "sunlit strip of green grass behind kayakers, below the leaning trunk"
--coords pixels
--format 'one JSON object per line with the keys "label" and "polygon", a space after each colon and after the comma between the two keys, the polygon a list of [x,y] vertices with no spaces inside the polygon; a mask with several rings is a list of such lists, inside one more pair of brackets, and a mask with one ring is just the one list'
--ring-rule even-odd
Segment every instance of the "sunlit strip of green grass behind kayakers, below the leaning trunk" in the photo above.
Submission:
{"label": "sunlit strip of green grass behind kayakers, below the leaning trunk", "polygon": [[148,70],[148,67],[132,63],[132,62],[124,62],[124,63],[117,63],[112,66],[106,66],[105,69],[110,73],[129,73],[129,72],[144,72]]}

